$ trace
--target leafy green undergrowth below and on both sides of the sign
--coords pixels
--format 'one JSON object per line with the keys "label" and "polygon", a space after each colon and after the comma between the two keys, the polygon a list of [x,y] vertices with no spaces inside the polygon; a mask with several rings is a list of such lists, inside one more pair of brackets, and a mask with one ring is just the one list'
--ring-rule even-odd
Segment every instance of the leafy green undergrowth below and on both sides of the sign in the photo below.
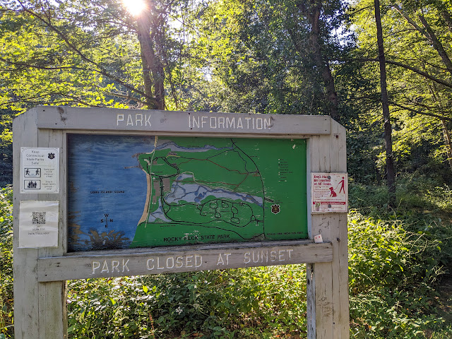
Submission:
{"label": "leafy green undergrowth below and on both sides of the sign", "polygon": [[[386,197],[350,185],[350,336],[450,339],[441,309],[452,292],[438,287],[451,274],[452,191],[411,178],[399,181],[397,208]],[[0,204],[4,339],[13,338],[11,187]],[[305,284],[304,265],[72,280],[69,338],[306,338]]]}

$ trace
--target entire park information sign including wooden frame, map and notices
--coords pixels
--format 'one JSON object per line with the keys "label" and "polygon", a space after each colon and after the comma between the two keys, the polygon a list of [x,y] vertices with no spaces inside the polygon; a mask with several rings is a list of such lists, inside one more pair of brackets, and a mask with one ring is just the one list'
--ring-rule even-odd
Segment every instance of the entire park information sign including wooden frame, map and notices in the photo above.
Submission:
{"label": "entire park information sign including wooden frame, map and notices", "polygon": [[330,117],[35,107],[13,133],[16,338],[66,338],[66,280],[292,263],[308,337],[348,338]]}

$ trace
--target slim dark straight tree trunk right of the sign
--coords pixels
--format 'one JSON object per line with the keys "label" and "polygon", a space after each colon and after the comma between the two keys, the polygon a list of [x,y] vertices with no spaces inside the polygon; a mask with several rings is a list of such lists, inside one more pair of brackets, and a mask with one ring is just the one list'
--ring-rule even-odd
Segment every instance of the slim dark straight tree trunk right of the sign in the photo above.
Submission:
{"label": "slim dark straight tree trunk right of the sign", "polygon": [[380,1],[374,0],[376,40],[379,47],[381,103],[383,104],[384,141],[386,146],[386,175],[388,177],[388,207],[396,206],[396,171],[394,169],[391,114],[389,113],[388,90],[386,86],[386,60],[383,47],[383,29],[381,28]]}

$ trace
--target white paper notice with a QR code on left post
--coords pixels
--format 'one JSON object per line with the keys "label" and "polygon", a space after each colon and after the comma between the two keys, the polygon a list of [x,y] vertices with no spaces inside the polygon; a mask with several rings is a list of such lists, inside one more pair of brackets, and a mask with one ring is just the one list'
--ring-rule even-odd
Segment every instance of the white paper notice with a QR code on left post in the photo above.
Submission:
{"label": "white paper notice with a QR code on left post", "polygon": [[58,201],[20,201],[19,247],[58,246]]}

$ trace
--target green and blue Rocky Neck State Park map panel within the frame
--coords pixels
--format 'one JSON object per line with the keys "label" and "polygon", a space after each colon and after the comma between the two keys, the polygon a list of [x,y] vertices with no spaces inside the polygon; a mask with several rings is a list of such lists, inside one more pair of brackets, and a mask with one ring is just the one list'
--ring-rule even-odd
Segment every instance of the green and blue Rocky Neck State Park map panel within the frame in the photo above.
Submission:
{"label": "green and blue Rocky Neck State Park map panel within the frame", "polygon": [[69,134],[69,251],[307,239],[304,139]]}

